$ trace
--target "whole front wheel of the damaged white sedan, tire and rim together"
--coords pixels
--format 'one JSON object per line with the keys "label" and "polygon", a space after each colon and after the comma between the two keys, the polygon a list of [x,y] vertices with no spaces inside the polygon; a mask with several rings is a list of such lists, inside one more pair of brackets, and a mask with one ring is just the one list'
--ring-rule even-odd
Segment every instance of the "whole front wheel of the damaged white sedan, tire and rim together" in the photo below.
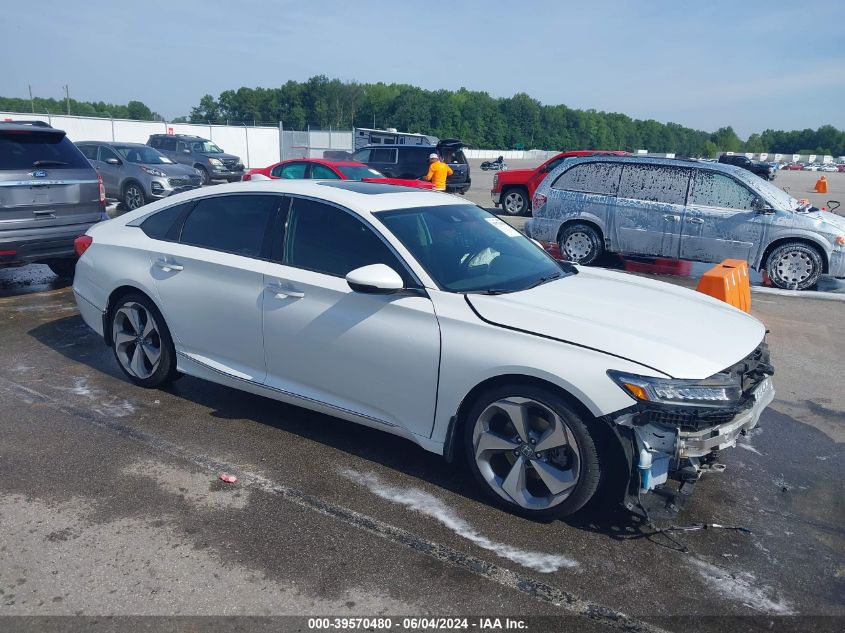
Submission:
{"label": "whole front wheel of the damaged white sedan, tire and rim together", "polygon": [[473,476],[495,502],[538,520],[580,510],[601,480],[596,442],[557,394],[503,385],[483,394],[464,425]]}

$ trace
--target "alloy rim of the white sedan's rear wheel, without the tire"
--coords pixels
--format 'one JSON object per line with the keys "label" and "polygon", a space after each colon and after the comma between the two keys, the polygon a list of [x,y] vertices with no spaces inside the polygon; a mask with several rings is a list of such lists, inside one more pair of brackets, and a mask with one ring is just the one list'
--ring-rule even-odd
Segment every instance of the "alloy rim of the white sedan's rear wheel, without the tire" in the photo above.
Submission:
{"label": "alloy rim of the white sedan's rear wheel, without the tire", "polygon": [[114,315],[112,340],[117,359],[129,374],[149,378],[161,361],[161,334],[153,315],[140,303],[124,304]]}

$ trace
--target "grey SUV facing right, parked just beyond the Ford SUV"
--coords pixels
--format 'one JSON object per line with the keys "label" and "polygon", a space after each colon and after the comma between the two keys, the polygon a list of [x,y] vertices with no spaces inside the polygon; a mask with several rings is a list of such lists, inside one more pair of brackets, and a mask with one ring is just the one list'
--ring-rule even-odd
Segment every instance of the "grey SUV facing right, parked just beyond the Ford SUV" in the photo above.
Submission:
{"label": "grey SUV facing right, parked just beyond the Ford SUV", "polygon": [[202,185],[198,170],[141,143],[82,141],[76,146],[103,179],[106,197],[120,200],[130,211]]}

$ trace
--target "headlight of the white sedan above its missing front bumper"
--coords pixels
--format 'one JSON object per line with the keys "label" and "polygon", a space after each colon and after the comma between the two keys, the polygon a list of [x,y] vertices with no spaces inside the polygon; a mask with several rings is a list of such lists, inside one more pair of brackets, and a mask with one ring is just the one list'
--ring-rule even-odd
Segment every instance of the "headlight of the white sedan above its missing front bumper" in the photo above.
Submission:
{"label": "headlight of the white sedan above its missing front bumper", "polygon": [[607,375],[640,402],[729,407],[736,405],[742,398],[742,387],[734,374],[716,374],[703,380],[653,378],[613,370],[608,371]]}

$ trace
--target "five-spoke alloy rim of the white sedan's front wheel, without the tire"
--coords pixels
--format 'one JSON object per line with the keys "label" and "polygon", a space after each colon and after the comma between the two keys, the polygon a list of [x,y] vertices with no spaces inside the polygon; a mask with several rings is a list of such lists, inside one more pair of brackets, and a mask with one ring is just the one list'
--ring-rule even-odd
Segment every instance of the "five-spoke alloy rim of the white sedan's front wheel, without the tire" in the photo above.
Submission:
{"label": "five-spoke alloy rim of the white sedan's front wheel, without the tire", "polygon": [[581,474],[572,430],[531,398],[509,397],[485,408],[473,429],[473,455],[496,494],[529,510],[563,502]]}

